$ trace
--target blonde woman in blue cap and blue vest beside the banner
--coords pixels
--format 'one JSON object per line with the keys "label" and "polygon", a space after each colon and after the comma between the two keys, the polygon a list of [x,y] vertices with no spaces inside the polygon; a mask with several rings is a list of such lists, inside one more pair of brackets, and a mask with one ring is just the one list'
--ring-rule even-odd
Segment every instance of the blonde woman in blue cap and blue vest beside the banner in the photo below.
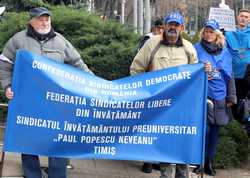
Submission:
{"label": "blonde woman in blue cap and blue vest beside the banner", "polygon": [[[216,174],[213,160],[218,143],[219,128],[228,124],[231,118],[230,106],[236,103],[236,91],[232,77],[232,57],[225,47],[225,38],[215,20],[208,20],[200,33],[200,42],[195,44],[199,62],[210,62],[208,73],[208,115],[204,172]],[[194,170],[201,171],[201,167]]]}

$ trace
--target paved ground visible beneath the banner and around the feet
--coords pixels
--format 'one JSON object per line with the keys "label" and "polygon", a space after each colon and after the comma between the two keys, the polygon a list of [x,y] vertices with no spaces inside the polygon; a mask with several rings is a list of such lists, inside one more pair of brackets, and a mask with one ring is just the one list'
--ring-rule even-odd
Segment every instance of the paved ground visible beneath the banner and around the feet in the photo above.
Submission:
{"label": "paved ground visible beneath the banner and around the feet", "polygon": [[[47,159],[42,157],[41,164],[47,165]],[[68,178],[159,178],[160,172],[154,170],[151,174],[140,171],[141,162],[112,160],[71,160],[74,169],[68,169]],[[3,177],[21,177],[20,156],[6,154]],[[190,178],[200,178],[191,174]],[[204,176],[204,178],[213,178]],[[244,169],[217,170],[215,178],[250,178],[250,164]]]}

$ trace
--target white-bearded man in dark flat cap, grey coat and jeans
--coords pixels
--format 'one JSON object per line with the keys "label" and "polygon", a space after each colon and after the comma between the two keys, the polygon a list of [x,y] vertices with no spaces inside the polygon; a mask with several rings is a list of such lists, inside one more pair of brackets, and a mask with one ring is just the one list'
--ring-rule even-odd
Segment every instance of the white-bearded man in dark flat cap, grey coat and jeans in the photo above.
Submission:
{"label": "white-bearded man in dark flat cap, grey coat and jeans", "polygon": [[[27,29],[15,34],[7,42],[0,56],[0,80],[8,99],[15,97],[11,89],[11,80],[16,52],[20,49],[92,73],[71,43],[59,33],[54,32],[51,26],[51,12],[48,9],[43,7],[33,8],[29,11],[29,14],[30,21]],[[49,178],[66,178],[66,164],[67,159],[50,157]],[[25,178],[42,177],[37,155],[22,154],[22,167]]]}

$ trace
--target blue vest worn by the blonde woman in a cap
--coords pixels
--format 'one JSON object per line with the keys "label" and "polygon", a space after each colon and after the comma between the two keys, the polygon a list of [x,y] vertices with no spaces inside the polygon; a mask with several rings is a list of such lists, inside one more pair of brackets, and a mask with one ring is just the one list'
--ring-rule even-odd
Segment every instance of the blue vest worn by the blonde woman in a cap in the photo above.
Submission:
{"label": "blue vest worn by the blonde woman in a cap", "polygon": [[212,65],[212,72],[208,75],[208,97],[224,100],[232,77],[232,56],[227,48],[224,48],[219,55],[209,54],[200,43],[196,43],[195,48],[199,62],[209,61]]}

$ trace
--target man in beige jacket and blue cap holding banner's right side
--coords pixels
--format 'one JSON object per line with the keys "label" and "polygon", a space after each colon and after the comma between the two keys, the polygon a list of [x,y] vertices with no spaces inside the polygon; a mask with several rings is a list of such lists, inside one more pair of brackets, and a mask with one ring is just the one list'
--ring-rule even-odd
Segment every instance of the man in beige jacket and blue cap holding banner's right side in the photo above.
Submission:
{"label": "man in beige jacket and blue cap holding banner's right side", "polygon": [[[184,17],[179,11],[170,12],[164,19],[163,34],[151,37],[135,56],[130,66],[130,74],[160,70],[183,64],[197,63],[197,54],[193,45],[181,37],[184,30]],[[208,71],[210,66],[205,65]],[[146,165],[149,165],[147,172]],[[152,167],[152,166],[151,166]],[[161,164],[161,177],[172,178],[172,168],[169,163]],[[175,178],[188,176],[187,165],[177,164]],[[151,172],[150,163],[143,166],[143,171]]]}

